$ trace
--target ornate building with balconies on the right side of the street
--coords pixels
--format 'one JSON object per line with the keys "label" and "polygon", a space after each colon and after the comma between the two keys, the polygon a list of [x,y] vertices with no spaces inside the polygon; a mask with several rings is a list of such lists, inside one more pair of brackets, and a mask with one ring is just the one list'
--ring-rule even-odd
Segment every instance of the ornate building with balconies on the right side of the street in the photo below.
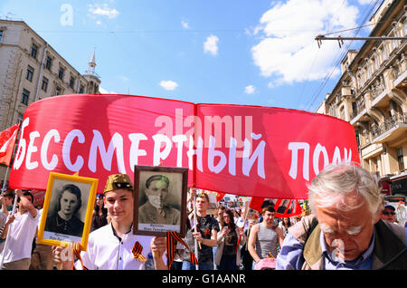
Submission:
{"label": "ornate building with balconies on the right side of the street", "polygon": [[[384,0],[369,36],[407,36],[407,5]],[[341,77],[317,112],[350,122],[364,168],[392,194],[407,195],[406,40],[366,41],[349,50]]]}

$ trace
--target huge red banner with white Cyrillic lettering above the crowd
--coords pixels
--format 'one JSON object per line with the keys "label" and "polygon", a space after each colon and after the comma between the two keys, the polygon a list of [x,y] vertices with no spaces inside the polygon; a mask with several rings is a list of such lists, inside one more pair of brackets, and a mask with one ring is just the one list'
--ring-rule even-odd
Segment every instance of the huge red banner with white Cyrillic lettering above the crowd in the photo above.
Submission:
{"label": "huge red banner with white Cyrillic lettering above the crowd", "polygon": [[[335,131],[335,133],[334,133]],[[307,198],[331,162],[359,162],[355,130],[321,114],[129,95],[64,95],[24,113],[11,187],[43,190],[51,171],[133,177],[135,165],[189,168],[188,186]]]}

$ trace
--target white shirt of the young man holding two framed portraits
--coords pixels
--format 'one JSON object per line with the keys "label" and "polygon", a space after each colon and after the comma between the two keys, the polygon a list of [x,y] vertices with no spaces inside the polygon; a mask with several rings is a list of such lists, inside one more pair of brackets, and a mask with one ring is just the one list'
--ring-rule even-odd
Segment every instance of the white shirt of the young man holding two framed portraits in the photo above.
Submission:
{"label": "white shirt of the young man holding two framed portraits", "polygon": [[[151,253],[150,242],[152,236],[133,235],[133,228],[123,235],[121,241],[113,233],[111,224],[102,226],[89,235],[88,249],[82,251],[83,265],[89,270],[144,270],[146,262],[134,258],[131,250],[138,241],[143,246],[141,254],[146,259]],[[81,270],[80,261],[76,261],[75,268]]]}

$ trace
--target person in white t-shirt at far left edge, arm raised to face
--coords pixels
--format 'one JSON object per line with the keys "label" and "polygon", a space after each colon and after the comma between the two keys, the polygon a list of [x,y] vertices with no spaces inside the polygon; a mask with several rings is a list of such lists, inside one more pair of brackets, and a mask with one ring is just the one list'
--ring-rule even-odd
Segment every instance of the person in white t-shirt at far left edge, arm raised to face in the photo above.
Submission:
{"label": "person in white t-shirt at far left edge, arm raised to face", "polygon": [[[31,263],[33,238],[37,231],[39,213],[33,206],[33,195],[20,189],[15,190],[19,197],[18,210],[7,216],[5,230],[1,237],[6,246],[1,255],[3,270],[28,270]],[[8,236],[7,236],[8,235]]]}

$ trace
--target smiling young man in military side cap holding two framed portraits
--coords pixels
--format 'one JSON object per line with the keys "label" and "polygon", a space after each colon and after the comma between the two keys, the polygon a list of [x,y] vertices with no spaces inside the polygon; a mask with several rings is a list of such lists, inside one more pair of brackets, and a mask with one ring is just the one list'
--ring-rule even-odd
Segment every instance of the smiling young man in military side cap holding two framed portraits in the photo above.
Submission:
{"label": "smiling young man in military side cap holding two framed portraits", "polygon": [[[156,270],[166,269],[163,256],[166,238],[133,235],[134,189],[127,174],[110,175],[105,189],[104,202],[111,222],[89,235],[87,251],[80,253],[84,268],[90,270],[144,270],[147,254],[153,252]],[[142,247],[141,254],[133,253]],[[139,249],[138,249],[139,250]],[[62,247],[53,247],[55,264],[71,269],[72,263]],[[80,261],[75,263],[81,269]]]}

